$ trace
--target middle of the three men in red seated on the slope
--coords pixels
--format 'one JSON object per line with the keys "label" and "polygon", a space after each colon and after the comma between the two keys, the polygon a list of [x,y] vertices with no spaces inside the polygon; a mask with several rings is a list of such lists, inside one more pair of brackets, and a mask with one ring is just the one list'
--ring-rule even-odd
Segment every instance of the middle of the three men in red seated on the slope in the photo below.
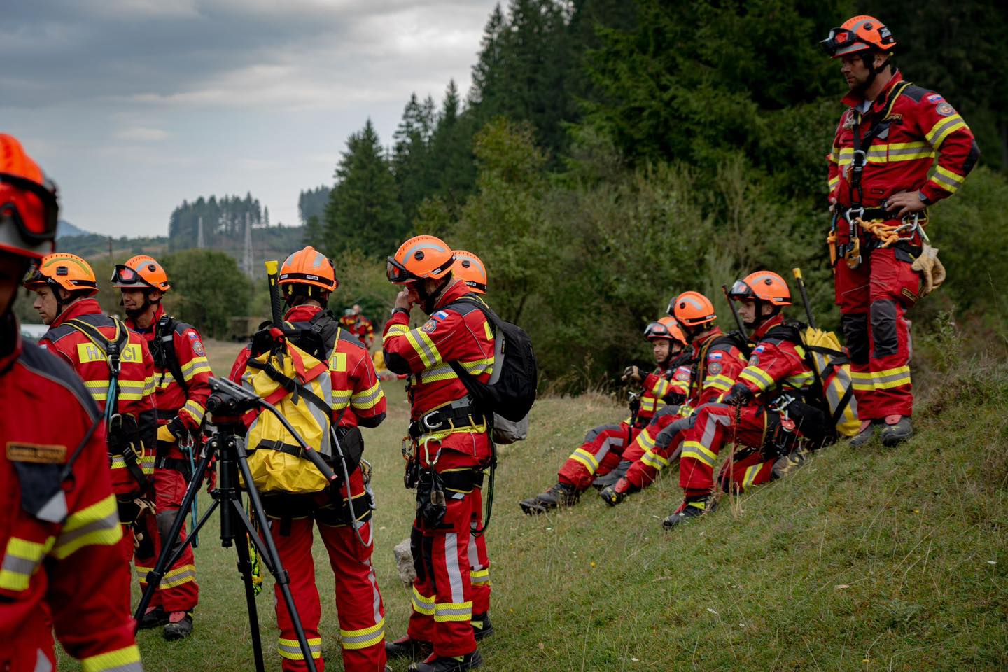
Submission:
{"label": "middle of the three men in red seated on the slope", "polygon": [[683,292],[669,302],[668,313],[690,345],[688,391],[680,406],[665,409],[647,428],[646,434],[641,432],[639,447],[643,450],[639,457],[625,477],[602,493],[603,500],[612,506],[646,488],[661,469],[679,457],[682,432],[696,421],[695,411],[718,401],[745,367],[744,340],[738,332],[725,333],[715,324],[714,304],[707,296],[694,291]]}

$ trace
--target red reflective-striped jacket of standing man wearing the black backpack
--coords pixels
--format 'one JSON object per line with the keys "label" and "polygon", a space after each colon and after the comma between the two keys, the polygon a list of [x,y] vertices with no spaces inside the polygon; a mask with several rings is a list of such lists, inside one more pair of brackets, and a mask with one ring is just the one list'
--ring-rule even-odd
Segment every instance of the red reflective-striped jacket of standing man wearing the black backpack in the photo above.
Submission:
{"label": "red reflective-striped jacket of standing man wearing the black backpack", "polygon": [[483,311],[465,303],[448,307],[469,293],[466,283],[456,281],[422,326],[410,329],[409,316],[401,310],[385,324],[385,366],[393,373],[413,375],[409,399],[414,420],[468,394],[449,362],[459,362],[484,382],[493,373],[494,334]]}

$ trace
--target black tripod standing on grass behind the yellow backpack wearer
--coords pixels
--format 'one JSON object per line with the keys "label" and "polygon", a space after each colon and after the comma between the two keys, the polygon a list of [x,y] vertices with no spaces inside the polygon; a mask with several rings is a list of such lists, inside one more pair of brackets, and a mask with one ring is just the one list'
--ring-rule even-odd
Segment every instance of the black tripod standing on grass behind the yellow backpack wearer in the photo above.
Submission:
{"label": "black tripod standing on grass behind the yellow backpack wearer", "polygon": [[[265,667],[262,659],[262,642],[259,637],[259,618],[255,606],[255,588],[252,583],[252,562],[249,557],[248,544],[242,538],[244,535],[248,535],[248,538],[255,544],[263,564],[266,565],[273,578],[276,579],[276,584],[280,587],[280,592],[283,594],[283,601],[286,602],[287,611],[290,613],[290,620],[294,624],[294,632],[297,635],[297,643],[300,646],[301,655],[304,656],[304,662],[308,670],[316,672],[314,659],[308,647],[307,639],[304,637],[304,629],[301,627],[301,620],[297,615],[293,595],[290,594],[289,578],[286,570],[280,564],[280,556],[276,552],[273,537],[268,533],[269,522],[263,511],[259,493],[252,483],[252,474],[245,458],[245,447],[241,438],[236,435],[235,430],[238,428],[241,416],[246,411],[261,407],[276,415],[283,423],[283,426],[287,428],[287,431],[301,444],[302,449],[310,451],[310,448],[276,408],[252,392],[222,378],[211,378],[210,387],[214,393],[207,399],[207,410],[217,416],[211,424],[215,425],[218,431],[204,443],[196,473],[193,475],[193,480],[185,490],[185,497],[182,499],[181,506],[178,509],[179,515],[175,517],[175,522],[171,526],[171,531],[168,533],[167,538],[161,540],[161,552],[157,557],[154,569],[147,573],[147,588],[143,591],[143,596],[136,608],[134,618],[137,624],[139,624],[140,619],[143,618],[144,612],[147,610],[147,606],[150,603],[150,598],[153,596],[154,590],[157,589],[157,586],[161,583],[161,579],[164,578],[167,568],[174,564],[181,556],[182,552],[193,543],[193,539],[196,538],[214,511],[223,503],[224,506],[221,507],[221,546],[230,548],[235,539],[238,539],[238,544],[236,545],[236,550],[238,551],[238,571],[241,572],[242,579],[245,582],[245,601],[248,604],[249,628],[252,634],[252,649],[255,656],[256,670],[264,672]],[[178,544],[177,548],[174,548],[181,533],[182,525],[185,523],[184,512],[188,511],[190,507],[193,506],[193,501],[199,494],[204,476],[207,473],[207,465],[215,455],[218,457],[218,483],[217,490],[211,492],[214,503],[210,506],[207,513],[204,514],[203,518],[200,519],[200,522],[193,529],[190,536],[186,537],[185,541]],[[255,516],[260,528],[267,530],[267,533],[263,534],[262,538],[259,537],[259,534],[253,528],[252,522],[242,507],[242,488],[238,481],[239,474],[245,481],[244,489],[248,492],[249,501],[252,505],[252,515]],[[326,473],[324,472],[323,474]],[[331,477],[332,471],[326,476]],[[174,551],[172,551],[173,548]]]}

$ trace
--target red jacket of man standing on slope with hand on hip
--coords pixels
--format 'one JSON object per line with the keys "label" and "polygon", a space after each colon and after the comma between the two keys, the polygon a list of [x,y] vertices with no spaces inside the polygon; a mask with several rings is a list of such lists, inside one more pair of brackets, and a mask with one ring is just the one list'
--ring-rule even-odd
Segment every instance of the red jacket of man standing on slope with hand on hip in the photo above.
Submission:
{"label": "red jacket of man standing on slope with hand on hip", "polygon": [[[858,121],[863,137],[875,123],[891,120],[885,137],[876,138],[868,147],[861,178],[866,208],[878,208],[899,191],[919,190],[931,203],[940,200],[956,192],[977,163],[977,142],[952,105],[939,94],[920,87],[897,89],[902,80],[900,73],[893,76],[863,120],[857,109],[862,99],[854,95],[844,99],[850,109],[840,118],[828,157],[830,194],[841,206],[851,207],[855,197],[848,179],[854,158],[854,124]],[[894,91],[898,92],[895,97]],[[935,153],[937,167],[928,178]]]}

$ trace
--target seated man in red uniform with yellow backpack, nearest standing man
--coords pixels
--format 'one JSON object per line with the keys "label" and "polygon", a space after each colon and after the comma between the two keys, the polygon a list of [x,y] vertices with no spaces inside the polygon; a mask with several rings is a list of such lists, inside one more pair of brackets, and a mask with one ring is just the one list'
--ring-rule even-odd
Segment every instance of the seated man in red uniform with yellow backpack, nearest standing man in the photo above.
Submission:
{"label": "seated man in red uniform with yellow backpack, nearest standing man", "polygon": [[[756,347],[745,368],[732,377],[720,403],[701,406],[681,431],[679,485],[685,500],[662,525],[666,530],[714,510],[714,464],[725,443],[739,446],[721,471],[726,492],[779,478],[801,462],[803,443],[818,447],[827,438],[822,404],[807,395],[815,375],[805,363],[801,338],[781,307],[791,292],[776,273],[757,271],[736,282],[729,298],[752,329]],[[709,365],[710,366],[710,365]]]}

